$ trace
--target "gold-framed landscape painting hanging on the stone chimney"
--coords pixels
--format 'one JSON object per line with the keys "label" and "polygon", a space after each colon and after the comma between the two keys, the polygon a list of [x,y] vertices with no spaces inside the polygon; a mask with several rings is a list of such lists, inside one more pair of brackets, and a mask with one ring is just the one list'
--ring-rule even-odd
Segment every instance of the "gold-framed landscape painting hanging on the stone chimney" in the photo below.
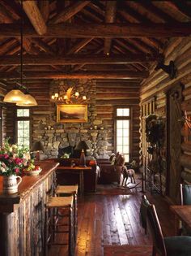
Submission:
{"label": "gold-framed landscape painting hanging on the stone chimney", "polygon": [[57,123],[86,123],[87,105],[57,105]]}

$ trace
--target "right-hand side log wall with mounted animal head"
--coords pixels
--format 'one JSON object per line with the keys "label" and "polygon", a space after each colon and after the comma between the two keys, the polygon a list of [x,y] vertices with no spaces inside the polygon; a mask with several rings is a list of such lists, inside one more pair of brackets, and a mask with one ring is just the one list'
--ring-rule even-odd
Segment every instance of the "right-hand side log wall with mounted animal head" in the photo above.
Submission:
{"label": "right-hand side log wall with mounted animal head", "polygon": [[[187,111],[191,115],[191,41],[190,38],[174,38],[169,41],[166,50],[164,51],[165,64],[169,64],[171,60],[176,66],[176,77],[170,79],[167,73],[162,69],[155,71],[156,63],[151,67],[150,76],[144,80],[141,88],[141,104],[155,96],[156,110],[155,113],[165,117],[166,116],[166,92],[171,89],[173,85],[181,83],[183,85],[183,102],[181,105],[182,111]],[[180,163],[182,171],[180,176],[183,181],[191,182],[191,138],[190,129],[182,128],[182,156]],[[141,145],[142,147],[142,145]]]}

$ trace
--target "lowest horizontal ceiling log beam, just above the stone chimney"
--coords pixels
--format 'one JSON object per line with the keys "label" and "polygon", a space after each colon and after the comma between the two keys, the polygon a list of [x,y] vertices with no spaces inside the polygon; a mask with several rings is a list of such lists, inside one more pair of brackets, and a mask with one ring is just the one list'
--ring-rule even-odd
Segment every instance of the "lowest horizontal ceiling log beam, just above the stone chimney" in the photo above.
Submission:
{"label": "lowest horizontal ceiling log beam, just above the stone chimney", "polygon": [[[132,79],[146,78],[149,72],[24,72],[25,78],[30,79]],[[0,72],[0,79],[20,79],[18,72]]]}

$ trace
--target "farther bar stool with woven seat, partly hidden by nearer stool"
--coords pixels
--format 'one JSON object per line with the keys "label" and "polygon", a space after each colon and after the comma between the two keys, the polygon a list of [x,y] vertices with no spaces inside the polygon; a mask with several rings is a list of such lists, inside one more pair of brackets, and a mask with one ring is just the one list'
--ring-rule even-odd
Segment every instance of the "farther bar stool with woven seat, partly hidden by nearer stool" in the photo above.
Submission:
{"label": "farther bar stool with woven seat, partly hidden by nearer stool", "polygon": [[55,193],[57,196],[73,196],[74,198],[74,241],[77,239],[78,232],[78,184],[75,185],[57,185]]}

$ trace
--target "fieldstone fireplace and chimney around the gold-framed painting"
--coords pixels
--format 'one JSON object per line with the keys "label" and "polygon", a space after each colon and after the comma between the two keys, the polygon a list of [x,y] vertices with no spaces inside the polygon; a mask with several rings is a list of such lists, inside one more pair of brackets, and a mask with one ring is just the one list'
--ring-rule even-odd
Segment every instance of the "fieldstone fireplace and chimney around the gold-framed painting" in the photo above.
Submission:
{"label": "fieldstone fireplace and chimney around the gold-framed painting", "polygon": [[[87,157],[108,158],[107,131],[103,121],[96,117],[96,80],[78,80],[79,93],[87,95],[87,123],[63,123],[56,122],[56,105],[51,103],[52,115],[40,119],[35,131],[34,140],[42,141],[45,152],[40,154],[40,159],[57,158],[58,151],[75,147],[79,141],[86,141],[90,150]],[[49,93],[52,95],[55,88],[59,92],[64,90],[65,82],[54,80],[50,85]]]}

